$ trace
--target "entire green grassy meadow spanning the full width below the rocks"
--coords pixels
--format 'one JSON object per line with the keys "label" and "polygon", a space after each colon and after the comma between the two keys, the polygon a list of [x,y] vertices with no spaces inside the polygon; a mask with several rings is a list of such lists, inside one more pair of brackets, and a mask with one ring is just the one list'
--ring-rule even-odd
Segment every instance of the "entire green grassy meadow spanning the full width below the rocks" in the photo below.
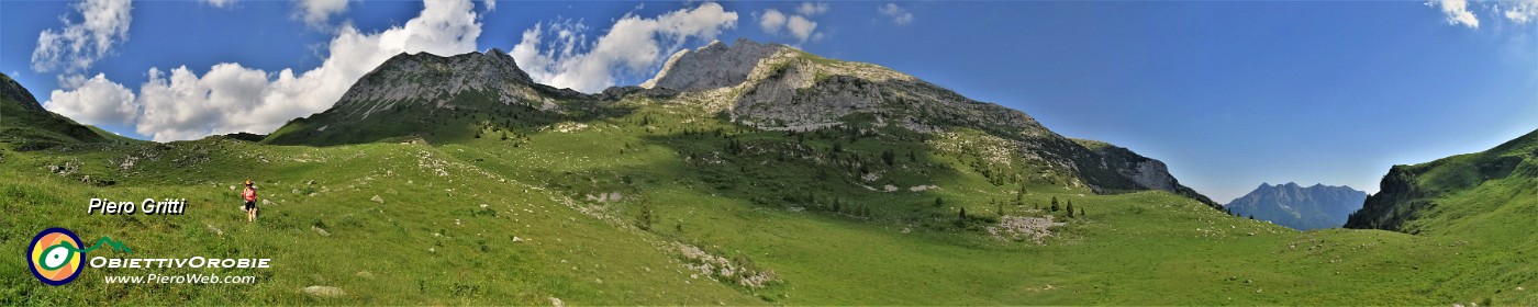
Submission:
{"label": "entire green grassy meadow spanning the full width below the rocks", "polygon": [[[1300,233],[1164,192],[1092,195],[1027,184],[1024,206],[1009,204],[1007,213],[1041,215],[1026,210],[1054,196],[1087,212],[1037,246],[980,230],[995,215],[990,200],[1014,200],[1018,189],[995,186],[967,167],[977,157],[935,150],[883,166],[877,157],[894,144],[832,135],[809,138],[809,154],[780,161],[798,143],[781,132],[732,129],[664,106],[644,107],[568,132],[434,146],[260,146],[215,138],[5,152],[0,249],[25,250],[37,230],[65,226],[85,239],[111,235],[145,256],[269,256],[275,269],[252,272],[261,278],[255,286],[106,286],[100,281],[105,270],[86,270],[78,284],[48,287],[25,272],[20,258],[0,258],[9,270],[0,275],[0,304],[549,304],[548,296],[569,304],[1446,304],[1486,298],[1535,304],[1532,290],[1512,290],[1538,286],[1524,256],[1533,252],[1533,236],[1493,224],[1533,216],[1538,206],[1521,203],[1530,198],[1513,198],[1501,206],[1512,212],[1490,220],[1449,218],[1469,224],[1447,233]],[[651,123],[638,124],[643,117]],[[557,123],[563,124],[577,127]],[[715,137],[717,127],[726,137]],[[515,127],[471,129],[500,135],[497,129]],[[744,143],[744,154],[723,154],[727,137]],[[843,154],[831,154],[834,141]],[[143,158],[157,154],[158,160]],[[141,160],[123,169],[125,155]],[[835,155],[858,157],[883,177],[864,181],[849,167],[814,163]],[[46,173],[45,166],[65,161],[83,167],[63,177]],[[118,184],[78,184],[82,175]],[[258,224],[245,224],[235,209],[231,186],[246,178],[255,178],[277,203],[265,207]],[[874,192],[860,184],[904,189]],[[906,189],[920,184],[940,189]],[[1530,186],[1513,183],[1481,193]],[[584,200],[603,192],[624,198]],[[812,196],[797,198],[803,192]],[[374,195],[384,203],[369,201]],[[181,196],[194,204],[185,216],[85,216],[91,196]],[[937,196],[944,206],[930,204]],[[564,200],[575,201],[566,206]],[[832,200],[846,210],[815,209]],[[631,226],[641,206],[654,210],[651,232]],[[851,206],[872,213],[852,213]],[[957,226],[957,209],[978,218]],[[512,236],[528,241],[512,243]],[[697,273],[683,267],[671,247],[675,241],[774,270],[783,282],[743,289],[691,276]],[[1513,247],[1520,243],[1529,247]],[[348,296],[325,301],[297,293],[306,286],[337,286]]]}

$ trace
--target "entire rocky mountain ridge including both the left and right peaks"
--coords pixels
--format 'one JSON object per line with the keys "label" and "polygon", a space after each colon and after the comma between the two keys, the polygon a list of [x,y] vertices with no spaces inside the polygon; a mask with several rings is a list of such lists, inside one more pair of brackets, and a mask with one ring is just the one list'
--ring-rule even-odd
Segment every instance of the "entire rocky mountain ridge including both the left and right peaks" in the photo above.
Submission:
{"label": "entire rocky mountain ridge including both the left and right peaks", "polygon": [[[714,41],[680,51],[644,84],[611,87],[603,94],[538,84],[511,57],[495,49],[452,57],[403,54],[358,80],[332,109],[295,120],[266,141],[331,140],[318,141],[326,144],[354,140],[338,135],[431,138],[438,132],[428,126],[444,121],[444,117],[463,118],[444,115],[460,111],[492,115],[471,114],[478,126],[514,123],[512,118],[546,118],[549,123],[524,126],[551,129],[555,121],[571,121],[572,117],[681,112],[657,109],[680,104],[692,107],[687,112],[697,112],[694,117],[718,117],[760,130],[840,127],[872,135],[917,134],[930,140],[943,140],[941,135],[997,140],[990,141],[1000,147],[995,158],[977,163],[977,172],[1007,173],[1010,181],[1024,175],[1029,178],[1023,180],[1095,192],[1160,189],[1217,206],[1180,186],[1157,160],[1124,149],[1092,150],[1046,129],[1024,112],[975,101],[877,64],[829,60],[784,45],[751,40],[731,46]],[[421,127],[366,124],[386,111],[391,117],[406,118],[389,123],[420,123]]]}

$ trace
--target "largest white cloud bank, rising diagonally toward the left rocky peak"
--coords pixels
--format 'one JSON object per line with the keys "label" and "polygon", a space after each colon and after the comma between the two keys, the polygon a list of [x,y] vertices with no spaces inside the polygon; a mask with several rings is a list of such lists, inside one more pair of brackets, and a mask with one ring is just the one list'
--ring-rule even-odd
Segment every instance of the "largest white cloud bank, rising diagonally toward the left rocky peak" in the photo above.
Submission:
{"label": "largest white cloud bank, rising diagonally toward the left rocky peak", "polygon": [[[155,141],[192,140],[214,134],[268,134],[288,120],[329,109],[361,77],[400,52],[454,55],[474,52],[481,25],[469,0],[426,0],[421,14],[403,26],[363,34],[343,26],[320,68],[266,72],[238,63],[214,64],[198,77],[186,66],[149,69],[149,81],[134,100],[141,107],[134,129]],[[103,80],[105,81],[105,80]],[[89,81],[86,84],[91,84]],[[54,97],[86,95],[74,91]],[[65,100],[49,106],[66,106]]]}

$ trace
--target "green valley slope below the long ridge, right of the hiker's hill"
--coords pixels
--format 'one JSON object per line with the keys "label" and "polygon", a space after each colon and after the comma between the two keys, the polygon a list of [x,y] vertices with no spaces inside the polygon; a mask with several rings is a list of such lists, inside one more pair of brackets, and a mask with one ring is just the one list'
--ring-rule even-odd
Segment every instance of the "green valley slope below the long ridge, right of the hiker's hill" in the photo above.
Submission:
{"label": "green valley slope below the long ridge, right of the hiker's hill", "polygon": [[[651,127],[661,135],[691,126],[695,130],[714,129],[711,124],[698,124],[700,118],[652,118],[678,123]],[[1074,198],[1080,206],[1089,207],[1090,215],[1064,229],[1061,241],[1044,247],[1001,244],[978,233],[904,224],[912,221],[907,215],[914,207],[929,210],[926,203],[937,195],[950,200],[950,204],[966,206],[969,212],[992,212],[986,206],[989,198],[1010,198],[1012,189],[997,187],[977,173],[966,173],[961,161],[943,161],[949,163],[946,169],[960,173],[898,180],[898,186],[904,187],[937,184],[943,187],[938,192],[861,193],[858,189],[827,187],[843,186],[837,180],[823,186],[795,184],[797,178],[814,175],[798,170],[795,163],[778,163],[772,155],[761,155],[757,157],[761,163],[726,164],[747,169],[735,173],[737,177],[772,178],[755,181],[757,184],[791,181],[789,187],[737,184],[718,189],[715,186],[723,184],[723,180],[712,178],[726,175],[712,173],[711,167],[684,166],[678,160],[686,154],[672,147],[687,152],[687,146],[724,147],[724,141],[712,144],[707,141],[712,138],[709,135],[677,137],[691,141],[671,144],[669,140],[677,138],[629,134],[632,127],[626,124],[637,121],[638,118],[620,118],[589,123],[595,129],[577,134],[535,135],[531,140],[535,146],[517,149],[498,146],[495,140],[472,141],[463,149],[471,152],[466,155],[484,155],[488,169],[524,172],[531,178],[561,178],[540,175],[561,173],[569,181],[551,184],[575,193],[638,190],[651,203],[664,204],[658,215],[683,229],[677,232],[663,227],[658,233],[727,247],[732,249],[731,253],[774,267],[786,276],[787,284],[780,292],[792,304],[1340,304],[1363,298],[1378,304],[1440,304],[1475,301],[1481,298],[1475,293],[1490,296],[1512,286],[1438,286],[1455,276],[1456,267],[1466,266],[1458,258],[1464,247],[1453,247],[1461,239],[1456,236],[1410,236],[1380,230],[1298,233],[1230,218],[1163,192],[1095,196],[1061,187],[1032,189],[1040,192],[1032,192],[1027,204],[1044,204],[1050,196]],[[747,132],[737,138],[772,138],[767,135],[777,132]],[[820,146],[809,143],[814,143],[812,147]],[[635,149],[626,144],[661,146]],[[475,147],[484,152],[471,150]],[[872,146],[871,150],[878,147]],[[861,150],[858,144],[846,149]],[[621,150],[626,154],[618,154],[618,158],[606,154]],[[755,169],[757,164],[769,167]],[[615,183],[618,178],[632,178],[641,184],[620,184]],[[663,184],[646,184],[655,181]],[[849,203],[869,204],[878,213],[861,220],[797,212],[798,207],[811,206],[795,201],[746,201],[780,198],[786,190],[800,193],[807,189],[817,195],[840,195]],[[917,230],[903,233],[904,227]],[[1052,290],[1041,290],[1047,284],[1052,284]],[[1495,298],[1516,299],[1513,295]]]}

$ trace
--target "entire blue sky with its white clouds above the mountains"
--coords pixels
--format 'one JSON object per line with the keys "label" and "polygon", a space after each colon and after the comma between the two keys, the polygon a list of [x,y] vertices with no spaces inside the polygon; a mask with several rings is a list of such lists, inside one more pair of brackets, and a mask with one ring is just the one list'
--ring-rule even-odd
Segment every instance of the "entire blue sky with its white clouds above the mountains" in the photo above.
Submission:
{"label": "entire blue sky with its white clouds above the mountains", "polygon": [[1260,183],[1375,192],[1392,164],[1538,127],[1538,5],[1460,3],[8,0],[0,71],[55,112],[165,141],[269,132],[400,51],[523,45],[531,74],[592,91],[747,37],[1021,109],[1226,203]]}

